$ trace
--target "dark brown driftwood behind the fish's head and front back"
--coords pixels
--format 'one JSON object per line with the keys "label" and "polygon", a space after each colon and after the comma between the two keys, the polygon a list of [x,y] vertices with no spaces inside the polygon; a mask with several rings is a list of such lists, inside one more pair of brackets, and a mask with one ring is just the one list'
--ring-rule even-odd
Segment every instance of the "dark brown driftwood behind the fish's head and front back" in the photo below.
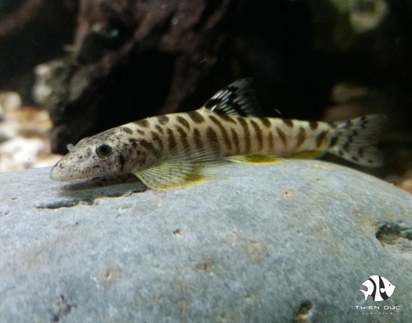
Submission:
{"label": "dark brown driftwood behind the fish's head and front back", "polygon": [[40,81],[52,89],[40,101],[54,121],[54,152],[115,125],[176,111],[215,66],[242,2],[80,1],[74,52],[45,64]]}

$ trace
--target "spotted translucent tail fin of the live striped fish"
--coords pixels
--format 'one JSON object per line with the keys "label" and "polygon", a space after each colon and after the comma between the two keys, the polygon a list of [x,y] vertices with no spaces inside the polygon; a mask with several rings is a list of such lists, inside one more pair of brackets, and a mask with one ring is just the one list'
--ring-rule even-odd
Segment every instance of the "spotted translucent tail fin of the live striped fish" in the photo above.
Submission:
{"label": "spotted translucent tail fin of the live striped fish", "polygon": [[375,145],[385,119],[383,115],[367,115],[333,123],[328,152],[358,165],[382,166],[382,153]]}

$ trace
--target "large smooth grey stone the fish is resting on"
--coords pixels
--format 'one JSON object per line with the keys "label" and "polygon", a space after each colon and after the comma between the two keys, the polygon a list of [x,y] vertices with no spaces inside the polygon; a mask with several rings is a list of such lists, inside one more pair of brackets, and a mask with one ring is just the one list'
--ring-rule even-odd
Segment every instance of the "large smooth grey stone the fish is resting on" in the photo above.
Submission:
{"label": "large smooth grey stone the fish is resting on", "polygon": [[[409,322],[411,195],[318,160],[226,169],[174,191],[1,174],[0,322]],[[375,274],[395,292],[365,302]]]}

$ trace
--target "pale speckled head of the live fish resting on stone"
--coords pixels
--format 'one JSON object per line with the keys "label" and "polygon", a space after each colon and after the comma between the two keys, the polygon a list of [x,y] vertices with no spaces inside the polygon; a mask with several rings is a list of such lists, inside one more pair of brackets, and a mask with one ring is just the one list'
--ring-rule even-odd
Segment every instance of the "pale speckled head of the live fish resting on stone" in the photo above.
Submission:
{"label": "pale speckled head of the live fish resting on stone", "polygon": [[122,134],[102,132],[67,148],[69,153],[52,168],[52,180],[73,182],[128,172]]}

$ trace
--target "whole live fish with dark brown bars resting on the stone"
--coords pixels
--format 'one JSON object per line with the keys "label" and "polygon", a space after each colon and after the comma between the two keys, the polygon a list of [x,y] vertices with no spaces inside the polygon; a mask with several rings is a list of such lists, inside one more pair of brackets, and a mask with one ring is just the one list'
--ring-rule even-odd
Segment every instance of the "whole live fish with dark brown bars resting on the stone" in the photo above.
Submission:
{"label": "whole live fish with dark brown bars resting on the stone", "polygon": [[384,116],[334,123],[262,117],[251,82],[225,86],[198,110],[148,117],[68,145],[50,178],[134,174],[160,190],[214,180],[213,169],[227,160],[268,164],[331,153],[358,165],[382,165],[376,144]]}

